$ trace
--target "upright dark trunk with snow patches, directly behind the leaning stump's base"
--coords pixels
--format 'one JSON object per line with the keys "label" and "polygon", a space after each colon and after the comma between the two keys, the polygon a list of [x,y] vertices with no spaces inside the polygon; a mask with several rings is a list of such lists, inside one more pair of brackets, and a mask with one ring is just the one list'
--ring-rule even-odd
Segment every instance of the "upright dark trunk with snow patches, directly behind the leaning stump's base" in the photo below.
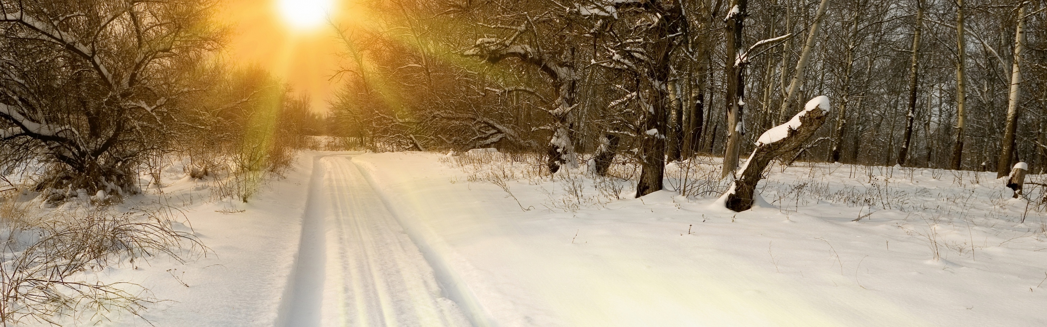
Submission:
{"label": "upright dark trunk with snow patches, directly behind the leaning stump's base", "polygon": [[727,146],[723,153],[723,172],[721,178],[734,175],[738,168],[738,154],[741,151],[741,135],[744,127],[741,124],[743,99],[745,96],[745,70],[741,60],[744,51],[741,42],[744,28],[745,7],[749,0],[732,1],[731,12],[727,21],[727,66],[723,74],[727,78]]}

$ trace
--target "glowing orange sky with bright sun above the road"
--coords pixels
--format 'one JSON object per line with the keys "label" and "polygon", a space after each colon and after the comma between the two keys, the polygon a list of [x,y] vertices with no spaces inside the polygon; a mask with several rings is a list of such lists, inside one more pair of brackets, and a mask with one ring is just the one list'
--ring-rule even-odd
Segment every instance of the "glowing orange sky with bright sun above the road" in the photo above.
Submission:
{"label": "glowing orange sky with bright sun above the road", "polygon": [[326,112],[339,85],[331,77],[342,59],[322,8],[337,24],[351,25],[353,10],[343,0],[225,0],[216,16],[231,32],[225,56],[268,69],[295,94],[308,94],[313,110]]}

